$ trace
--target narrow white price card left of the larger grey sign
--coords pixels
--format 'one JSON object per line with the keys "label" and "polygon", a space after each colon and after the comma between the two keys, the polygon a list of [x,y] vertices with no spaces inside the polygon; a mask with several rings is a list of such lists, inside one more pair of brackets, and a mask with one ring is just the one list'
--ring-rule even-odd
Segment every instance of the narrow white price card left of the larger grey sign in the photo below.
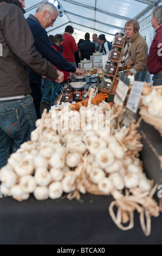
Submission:
{"label": "narrow white price card left of the larger grey sign", "polygon": [[118,82],[118,86],[116,88],[114,103],[115,105],[123,105],[126,99],[126,95],[128,92],[130,80],[127,78],[125,74],[121,74],[120,80]]}

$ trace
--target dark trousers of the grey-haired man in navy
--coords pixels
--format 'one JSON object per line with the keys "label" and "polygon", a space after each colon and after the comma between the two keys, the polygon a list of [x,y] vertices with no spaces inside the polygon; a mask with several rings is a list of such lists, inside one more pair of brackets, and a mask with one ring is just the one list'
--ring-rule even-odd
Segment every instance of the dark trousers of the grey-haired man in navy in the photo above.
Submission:
{"label": "dark trousers of the grey-haired man in navy", "polygon": [[40,104],[42,99],[41,84],[30,83],[37,119],[41,118]]}

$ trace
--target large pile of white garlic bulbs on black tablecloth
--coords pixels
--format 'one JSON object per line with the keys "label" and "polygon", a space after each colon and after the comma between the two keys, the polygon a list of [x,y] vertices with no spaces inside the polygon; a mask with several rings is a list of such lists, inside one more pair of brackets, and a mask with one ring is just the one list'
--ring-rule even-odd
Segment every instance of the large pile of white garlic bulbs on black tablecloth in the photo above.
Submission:
{"label": "large pile of white garlic bulbs on black tablecloth", "polygon": [[[98,127],[96,120],[101,112]],[[123,215],[145,209],[151,216],[158,216],[158,205],[150,196],[153,181],[147,179],[139,160],[142,144],[138,125],[120,128],[123,113],[122,107],[111,110],[108,103],[81,107],[80,112],[70,111],[70,105],[45,111],[36,121],[31,141],[23,143],[1,168],[3,195],[21,201],[30,193],[37,200],[57,199],[67,193],[69,199],[79,199],[80,193],[90,192],[118,200],[125,198],[126,188],[134,197],[144,195],[145,200],[139,208],[140,202],[132,203],[132,208],[118,204]]]}

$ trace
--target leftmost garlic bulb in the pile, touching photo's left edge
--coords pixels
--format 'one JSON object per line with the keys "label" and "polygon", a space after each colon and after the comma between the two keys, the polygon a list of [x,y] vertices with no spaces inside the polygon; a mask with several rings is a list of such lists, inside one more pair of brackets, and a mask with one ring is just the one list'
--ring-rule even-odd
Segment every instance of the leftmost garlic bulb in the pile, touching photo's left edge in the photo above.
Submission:
{"label": "leftmost garlic bulb in the pile, touching photo's left edge", "polygon": [[5,170],[5,172],[2,172],[1,181],[5,187],[11,188],[16,184],[17,175],[12,170]]}

